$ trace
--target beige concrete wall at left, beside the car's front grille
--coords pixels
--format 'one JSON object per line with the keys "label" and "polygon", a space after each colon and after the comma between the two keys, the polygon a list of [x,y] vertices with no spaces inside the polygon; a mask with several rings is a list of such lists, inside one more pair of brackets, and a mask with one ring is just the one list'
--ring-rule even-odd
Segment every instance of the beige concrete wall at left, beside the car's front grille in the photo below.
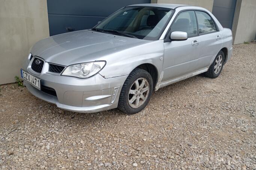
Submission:
{"label": "beige concrete wall at left, beside the car's front grille", "polygon": [[0,0],[0,84],[20,75],[23,59],[49,36],[47,0]]}

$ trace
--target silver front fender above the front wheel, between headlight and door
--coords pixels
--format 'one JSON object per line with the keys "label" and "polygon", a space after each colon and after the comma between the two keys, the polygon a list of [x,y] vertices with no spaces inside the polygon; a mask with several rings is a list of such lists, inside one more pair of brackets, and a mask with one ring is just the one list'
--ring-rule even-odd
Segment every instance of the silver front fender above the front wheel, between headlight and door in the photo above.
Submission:
{"label": "silver front fender above the front wheel, between headlight and door", "polygon": [[164,40],[150,41],[136,47],[122,50],[105,56],[106,66],[99,72],[104,78],[129,75],[141,64],[152,64],[158,70],[158,77],[163,70]]}

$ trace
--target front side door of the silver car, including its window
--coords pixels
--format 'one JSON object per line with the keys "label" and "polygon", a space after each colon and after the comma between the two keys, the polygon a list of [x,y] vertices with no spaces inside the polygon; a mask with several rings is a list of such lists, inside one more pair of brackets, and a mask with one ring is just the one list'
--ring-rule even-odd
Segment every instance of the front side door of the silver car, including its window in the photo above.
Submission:
{"label": "front side door of the silver car, including its window", "polygon": [[188,39],[164,43],[164,73],[161,82],[196,71],[196,61],[200,53],[196,15],[193,10],[179,13],[170,31],[187,32]]}

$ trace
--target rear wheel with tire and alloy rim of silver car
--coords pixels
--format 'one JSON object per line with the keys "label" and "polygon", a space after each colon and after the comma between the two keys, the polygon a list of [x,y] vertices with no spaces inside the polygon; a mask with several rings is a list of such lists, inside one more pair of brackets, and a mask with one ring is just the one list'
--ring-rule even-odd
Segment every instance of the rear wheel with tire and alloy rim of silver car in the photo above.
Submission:
{"label": "rear wheel with tire and alloy rim of silver car", "polygon": [[[223,65],[224,65],[224,53],[223,51],[218,52],[217,56],[215,57],[212,65],[209,67],[208,71],[205,72],[205,76],[209,78],[216,78],[220,75]],[[221,59],[220,59],[221,58]],[[221,62],[219,62],[221,60]],[[215,68],[217,67],[217,68]]]}

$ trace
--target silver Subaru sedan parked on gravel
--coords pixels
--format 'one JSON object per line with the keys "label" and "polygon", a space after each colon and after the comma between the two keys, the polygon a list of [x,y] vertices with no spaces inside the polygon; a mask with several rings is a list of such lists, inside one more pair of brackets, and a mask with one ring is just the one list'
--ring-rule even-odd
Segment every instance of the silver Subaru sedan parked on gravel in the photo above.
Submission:
{"label": "silver Subaru sedan parked on gravel", "polygon": [[21,76],[33,95],[59,108],[134,114],[153,90],[201,73],[218,77],[231,55],[231,30],[208,10],[136,4],[90,30],[38,41]]}

